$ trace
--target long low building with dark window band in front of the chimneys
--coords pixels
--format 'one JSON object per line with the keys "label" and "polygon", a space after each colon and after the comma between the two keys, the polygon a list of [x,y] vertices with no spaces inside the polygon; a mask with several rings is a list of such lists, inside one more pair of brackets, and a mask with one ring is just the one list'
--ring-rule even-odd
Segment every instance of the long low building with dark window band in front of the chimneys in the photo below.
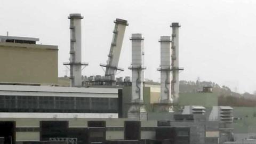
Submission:
{"label": "long low building with dark window band in front of the chimneys", "polygon": [[[0,127],[16,143],[52,138],[76,138],[77,143],[219,140],[219,121],[207,121],[203,114],[149,113],[144,120],[118,118],[122,113],[122,90],[118,89],[40,86],[38,90],[38,86],[19,85],[0,85],[0,89]],[[169,134],[164,135],[166,132]]]}

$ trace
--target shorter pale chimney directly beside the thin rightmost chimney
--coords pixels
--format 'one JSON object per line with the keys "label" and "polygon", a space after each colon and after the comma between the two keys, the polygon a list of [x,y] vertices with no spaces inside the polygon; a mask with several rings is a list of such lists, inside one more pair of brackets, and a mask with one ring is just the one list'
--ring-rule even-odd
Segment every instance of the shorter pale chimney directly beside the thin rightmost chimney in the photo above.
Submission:
{"label": "shorter pale chimney directly beside the thin rightmost chimney", "polygon": [[156,111],[173,112],[171,90],[171,37],[161,36],[161,65],[157,69],[161,71],[161,99],[156,103]]}

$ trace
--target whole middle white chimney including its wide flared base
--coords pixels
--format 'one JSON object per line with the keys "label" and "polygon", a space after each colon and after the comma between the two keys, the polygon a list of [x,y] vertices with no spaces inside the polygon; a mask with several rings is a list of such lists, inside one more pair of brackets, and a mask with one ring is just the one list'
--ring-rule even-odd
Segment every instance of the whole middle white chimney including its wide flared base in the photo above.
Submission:
{"label": "whole middle white chimney including its wide flared base", "polygon": [[141,34],[132,34],[132,97],[128,118],[147,119],[147,112],[143,103],[143,40]]}

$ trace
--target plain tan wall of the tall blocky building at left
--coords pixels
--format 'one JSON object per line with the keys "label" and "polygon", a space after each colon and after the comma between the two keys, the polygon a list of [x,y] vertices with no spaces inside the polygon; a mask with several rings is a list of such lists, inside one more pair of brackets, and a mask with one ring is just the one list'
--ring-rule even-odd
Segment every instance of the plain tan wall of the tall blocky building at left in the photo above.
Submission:
{"label": "plain tan wall of the tall blocky building at left", "polygon": [[0,43],[0,82],[58,83],[58,46]]}

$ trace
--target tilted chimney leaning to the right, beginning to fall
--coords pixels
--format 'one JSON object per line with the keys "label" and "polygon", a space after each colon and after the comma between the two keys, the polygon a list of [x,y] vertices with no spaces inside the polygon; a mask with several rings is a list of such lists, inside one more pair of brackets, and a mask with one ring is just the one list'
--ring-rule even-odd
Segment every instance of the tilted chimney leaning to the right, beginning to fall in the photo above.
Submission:
{"label": "tilted chimney leaning to the right, beginning to fall", "polygon": [[116,24],[113,31],[113,38],[108,54],[107,64],[100,64],[100,66],[106,67],[105,81],[108,82],[107,84],[109,85],[115,85],[116,71],[124,70],[123,68],[118,68],[118,62],[123,44],[125,27],[128,26],[127,21],[122,19],[116,19],[114,23]]}

